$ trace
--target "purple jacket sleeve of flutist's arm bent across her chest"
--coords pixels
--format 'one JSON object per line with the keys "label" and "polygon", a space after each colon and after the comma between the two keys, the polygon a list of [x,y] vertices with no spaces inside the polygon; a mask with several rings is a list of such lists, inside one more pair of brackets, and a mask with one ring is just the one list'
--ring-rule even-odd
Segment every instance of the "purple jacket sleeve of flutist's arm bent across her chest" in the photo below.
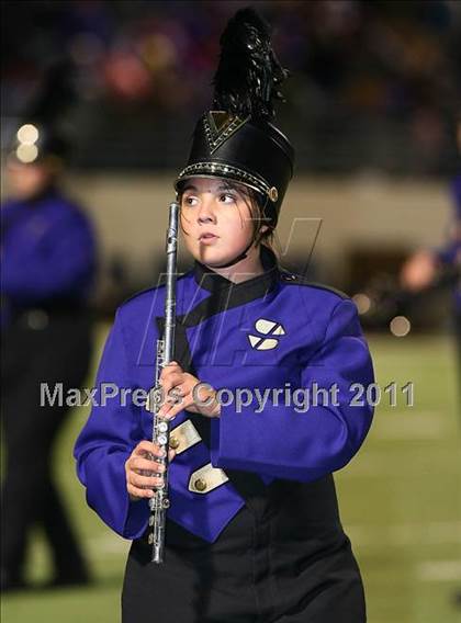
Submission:
{"label": "purple jacket sleeve of flutist's arm bent across her chest", "polygon": [[329,394],[328,401],[317,400],[317,406],[311,404],[306,412],[286,401],[276,405],[273,399],[261,412],[255,412],[255,400],[240,412],[234,403],[222,406],[212,429],[213,465],[308,482],[352,458],[370,428],[373,408],[364,399],[356,400],[360,405],[356,406],[350,388],[355,383],[364,387],[372,383],[373,369],[350,299],[341,299],[334,308],[321,347],[303,365],[301,381],[301,387],[310,390],[337,387],[336,395]]}

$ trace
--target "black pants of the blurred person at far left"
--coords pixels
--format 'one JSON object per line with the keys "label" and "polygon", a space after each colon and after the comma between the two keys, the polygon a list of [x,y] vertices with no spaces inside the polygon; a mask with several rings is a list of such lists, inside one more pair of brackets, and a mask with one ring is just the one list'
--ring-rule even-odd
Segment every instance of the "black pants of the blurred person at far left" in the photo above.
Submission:
{"label": "black pants of the blurred person at far left", "polygon": [[[91,356],[86,313],[30,312],[2,333],[2,431],[7,452],[1,507],[1,569],[8,581],[23,579],[31,528],[43,528],[56,579],[86,575],[83,556],[53,477],[52,452],[69,408],[40,406],[41,383],[52,394],[85,382]],[[70,457],[69,457],[70,461]]]}

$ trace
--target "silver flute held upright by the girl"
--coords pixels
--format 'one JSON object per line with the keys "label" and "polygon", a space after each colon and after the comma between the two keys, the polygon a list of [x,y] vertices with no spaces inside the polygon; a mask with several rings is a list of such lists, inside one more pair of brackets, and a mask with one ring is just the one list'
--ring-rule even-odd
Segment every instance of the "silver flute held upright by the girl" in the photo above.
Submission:
{"label": "silver flute held upright by the girl", "polygon": [[161,339],[157,340],[157,360],[155,384],[149,395],[148,409],[153,414],[153,443],[164,450],[164,456],[153,458],[165,465],[165,472],[159,474],[162,484],[154,488],[154,496],[149,499],[149,545],[153,546],[151,562],[162,563],[165,558],[165,528],[168,499],[168,449],[170,441],[169,420],[158,416],[162,405],[162,389],[160,385],[161,370],[173,360],[175,328],[176,328],[176,277],[177,277],[177,249],[178,249],[178,216],[179,204],[170,204],[169,223],[167,230],[167,281],[165,295],[165,329]]}

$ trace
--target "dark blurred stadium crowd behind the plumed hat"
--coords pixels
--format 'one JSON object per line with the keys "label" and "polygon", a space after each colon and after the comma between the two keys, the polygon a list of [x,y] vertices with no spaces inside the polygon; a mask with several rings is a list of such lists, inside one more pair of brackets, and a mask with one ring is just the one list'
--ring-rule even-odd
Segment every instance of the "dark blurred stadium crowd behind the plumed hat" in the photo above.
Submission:
{"label": "dark blurred stadium crowd behind the plumed hat", "polygon": [[[246,4],[3,2],[2,147],[48,68],[65,59],[76,166],[177,168],[211,98],[218,33]],[[460,2],[254,4],[277,25],[276,49],[292,72],[279,118],[300,170],[452,173]]]}

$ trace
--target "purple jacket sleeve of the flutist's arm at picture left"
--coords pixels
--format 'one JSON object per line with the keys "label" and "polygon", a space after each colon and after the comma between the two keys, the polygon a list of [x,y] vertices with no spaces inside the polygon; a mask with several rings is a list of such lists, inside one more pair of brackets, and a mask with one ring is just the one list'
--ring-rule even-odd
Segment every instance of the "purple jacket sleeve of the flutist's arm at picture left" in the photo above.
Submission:
{"label": "purple jacket sleeve of the flutist's arm at picture left", "polygon": [[[91,414],[80,432],[74,456],[77,475],[87,488],[87,502],[121,536],[137,539],[147,526],[146,500],[131,501],[126,490],[125,461],[144,439],[140,427],[142,407],[131,399],[106,398],[115,388],[132,388],[120,309],[105,342],[99,365],[98,393]],[[110,384],[110,385],[109,385]]]}

